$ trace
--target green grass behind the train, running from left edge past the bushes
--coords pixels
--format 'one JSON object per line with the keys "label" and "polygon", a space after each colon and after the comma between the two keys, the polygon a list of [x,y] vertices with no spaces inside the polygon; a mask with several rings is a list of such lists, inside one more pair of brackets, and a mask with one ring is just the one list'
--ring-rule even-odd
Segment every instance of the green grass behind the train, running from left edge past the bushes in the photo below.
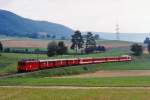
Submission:
{"label": "green grass behind the train, running from left edge past the bushes", "polygon": [[48,58],[47,55],[39,54],[15,54],[15,53],[2,53],[0,56],[0,75],[7,73],[15,73],[17,70],[17,62],[20,59],[55,59],[55,58],[75,58],[75,57],[103,57],[103,56],[115,56],[124,54],[122,51],[115,52],[111,50],[106,53],[96,53],[88,55],[63,55]]}

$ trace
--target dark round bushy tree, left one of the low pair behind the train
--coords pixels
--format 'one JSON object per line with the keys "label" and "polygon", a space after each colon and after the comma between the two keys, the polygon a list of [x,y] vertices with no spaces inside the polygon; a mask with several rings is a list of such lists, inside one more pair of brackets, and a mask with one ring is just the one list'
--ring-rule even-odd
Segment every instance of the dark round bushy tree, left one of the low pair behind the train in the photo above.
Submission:
{"label": "dark round bushy tree, left one of the low pair behind the train", "polygon": [[55,41],[52,41],[52,42],[48,43],[47,55],[49,57],[56,55],[57,54],[57,49],[58,49],[58,45]]}

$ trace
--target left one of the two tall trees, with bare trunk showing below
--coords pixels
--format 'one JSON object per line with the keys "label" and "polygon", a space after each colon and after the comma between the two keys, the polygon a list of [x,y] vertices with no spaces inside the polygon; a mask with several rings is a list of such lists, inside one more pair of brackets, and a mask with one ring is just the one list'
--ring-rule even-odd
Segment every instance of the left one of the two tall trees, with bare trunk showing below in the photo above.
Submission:
{"label": "left one of the two tall trees, with bare trunk showing below", "polygon": [[77,53],[78,49],[81,49],[84,44],[84,40],[80,31],[75,31],[74,35],[72,35],[71,42],[71,49],[75,49]]}

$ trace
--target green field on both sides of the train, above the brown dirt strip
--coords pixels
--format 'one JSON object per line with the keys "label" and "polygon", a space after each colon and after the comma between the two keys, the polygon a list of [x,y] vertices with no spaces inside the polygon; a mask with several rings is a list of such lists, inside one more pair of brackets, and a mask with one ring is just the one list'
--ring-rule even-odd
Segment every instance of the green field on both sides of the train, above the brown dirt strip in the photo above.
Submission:
{"label": "green field on both sides of the train, above the brown dirt strip", "polygon": [[[15,53],[2,53],[0,56],[0,75],[17,72],[17,62],[20,59],[54,59],[54,58],[74,58],[74,57],[104,57],[104,56],[120,56],[128,54],[129,51],[121,49],[112,49],[105,53],[95,53],[88,55],[63,55],[48,58],[47,55],[35,54],[15,54]],[[94,72],[97,70],[149,70],[150,69],[150,56],[143,55],[141,57],[133,57],[131,62],[115,62],[103,63],[92,65],[78,65],[63,68],[54,68],[31,73],[30,76],[53,76],[53,75],[70,75],[85,72]]]}

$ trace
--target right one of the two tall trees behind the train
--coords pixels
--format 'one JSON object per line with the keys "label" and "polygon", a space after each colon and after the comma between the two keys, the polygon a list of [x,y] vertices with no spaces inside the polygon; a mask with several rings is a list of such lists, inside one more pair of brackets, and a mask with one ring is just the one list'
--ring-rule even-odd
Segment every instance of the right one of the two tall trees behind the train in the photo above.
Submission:
{"label": "right one of the two tall trees behind the train", "polygon": [[86,36],[86,48],[89,47],[96,47],[96,41],[91,32],[88,32]]}

